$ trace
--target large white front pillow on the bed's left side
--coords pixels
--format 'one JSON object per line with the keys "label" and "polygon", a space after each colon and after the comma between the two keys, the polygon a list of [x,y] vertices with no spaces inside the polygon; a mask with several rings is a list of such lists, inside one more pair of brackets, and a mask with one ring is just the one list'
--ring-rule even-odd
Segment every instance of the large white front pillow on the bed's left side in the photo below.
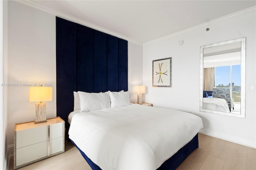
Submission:
{"label": "large white front pillow on the bed's left side", "polygon": [[110,107],[109,93],[86,93],[78,91],[81,112],[95,111]]}

